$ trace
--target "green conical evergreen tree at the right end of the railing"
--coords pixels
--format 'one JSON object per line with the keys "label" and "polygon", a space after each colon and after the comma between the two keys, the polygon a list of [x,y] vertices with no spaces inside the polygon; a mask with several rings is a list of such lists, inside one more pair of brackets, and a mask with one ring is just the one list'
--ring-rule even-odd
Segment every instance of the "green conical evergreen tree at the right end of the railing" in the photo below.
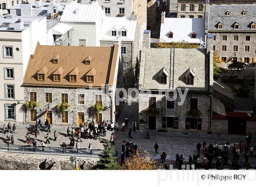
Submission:
{"label": "green conical evergreen tree at the right end of the railing", "polygon": [[104,145],[104,151],[101,154],[100,161],[97,162],[96,168],[99,170],[118,170],[119,165],[116,158],[113,156],[115,153],[110,142],[107,141]]}

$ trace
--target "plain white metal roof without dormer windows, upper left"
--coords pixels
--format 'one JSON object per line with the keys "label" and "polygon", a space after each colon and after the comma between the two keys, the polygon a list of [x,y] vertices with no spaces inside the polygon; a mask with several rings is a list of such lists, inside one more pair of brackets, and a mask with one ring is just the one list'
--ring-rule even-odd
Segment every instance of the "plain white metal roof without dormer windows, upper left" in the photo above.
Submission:
{"label": "plain white metal roof without dormer windows, upper left", "polygon": [[[60,21],[62,22],[96,22],[103,10],[99,5],[66,5]],[[104,15],[105,16],[105,15]]]}

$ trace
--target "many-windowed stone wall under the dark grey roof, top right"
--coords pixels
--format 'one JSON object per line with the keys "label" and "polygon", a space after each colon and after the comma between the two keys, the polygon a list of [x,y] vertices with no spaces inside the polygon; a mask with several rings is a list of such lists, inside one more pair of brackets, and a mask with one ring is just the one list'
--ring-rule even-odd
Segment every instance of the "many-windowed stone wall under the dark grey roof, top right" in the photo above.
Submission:
{"label": "many-windowed stone wall under the dark grey roof, top right", "polygon": [[[217,51],[219,57],[227,57],[227,61],[232,60],[232,57],[237,57],[240,61],[241,57],[243,62],[245,62],[245,57],[256,57],[255,50],[256,46],[254,41],[256,41],[256,34],[250,32],[209,32],[216,36],[216,40],[207,39],[207,48],[213,49],[215,46],[215,51]],[[227,36],[227,41],[223,41],[222,37]],[[234,41],[234,36],[239,36],[239,41]],[[245,41],[245,36],[251,36],[251,41]],[[222,46],[227,46],[227,51],[222,51]],[[233,46],[238,46],[238,52],[233,51]],[[245,46],[250,46],[250,52],[245,52]],[[252,63],[252,59],[251,59]]]}

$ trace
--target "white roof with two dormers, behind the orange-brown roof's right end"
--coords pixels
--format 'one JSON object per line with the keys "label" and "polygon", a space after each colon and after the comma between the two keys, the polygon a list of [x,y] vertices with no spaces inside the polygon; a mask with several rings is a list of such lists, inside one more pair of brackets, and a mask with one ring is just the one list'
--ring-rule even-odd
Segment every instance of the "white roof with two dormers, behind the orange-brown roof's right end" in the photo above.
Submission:
{"label": "white roof with two dormers, behind the orange-brown roof's right end", "polygon": [[[133,41],[136,25],[137,21],[131,21],[130,17],[107,17],[103,21],[100,40],[112,41],[120,38],[121,41]],[[117,31],[117,36],[112,36],[112,31]],[[122,31],[126,31],[127,36],[122,36]]]}

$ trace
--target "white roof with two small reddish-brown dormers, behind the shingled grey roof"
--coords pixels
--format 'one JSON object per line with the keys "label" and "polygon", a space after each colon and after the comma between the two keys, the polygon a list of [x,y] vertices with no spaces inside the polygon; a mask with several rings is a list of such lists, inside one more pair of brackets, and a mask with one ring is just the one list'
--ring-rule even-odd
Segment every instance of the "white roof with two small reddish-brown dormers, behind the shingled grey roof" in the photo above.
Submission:
{"label": "white roof with two small reddish-brown dormers, behind the shingled grey roof", "polygon": [[[168,38],[169,32],[173,38]],[[196,38],[191,38],[192,31],[196,32]],[[181,42],[200,43],[204,42],[204,19],[203,18],[165,18],[161,24],[160,42]]]}

